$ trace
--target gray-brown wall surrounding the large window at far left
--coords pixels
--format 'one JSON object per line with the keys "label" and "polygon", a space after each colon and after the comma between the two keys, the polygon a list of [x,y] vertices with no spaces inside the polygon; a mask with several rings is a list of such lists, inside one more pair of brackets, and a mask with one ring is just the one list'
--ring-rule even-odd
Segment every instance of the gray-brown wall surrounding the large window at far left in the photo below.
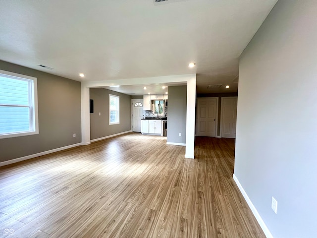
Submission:
{"label": "gray-brown wall surrounding the large window at far left", "polygon": [[4,61],[0,69],[37,78],[40,131],[0,139],[0,162],[81,142],[80,82]]}

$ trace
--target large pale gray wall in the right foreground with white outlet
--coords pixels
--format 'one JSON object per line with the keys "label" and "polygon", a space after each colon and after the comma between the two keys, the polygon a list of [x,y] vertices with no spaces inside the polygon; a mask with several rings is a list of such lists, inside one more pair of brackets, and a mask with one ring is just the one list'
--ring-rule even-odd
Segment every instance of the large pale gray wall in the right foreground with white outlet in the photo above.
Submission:
{"label": "large pale gray wall in the right foreground with white outlet", "polygon": [[274,238],[317,236],[316,9],[278,0],[240,60],[234,174]]}

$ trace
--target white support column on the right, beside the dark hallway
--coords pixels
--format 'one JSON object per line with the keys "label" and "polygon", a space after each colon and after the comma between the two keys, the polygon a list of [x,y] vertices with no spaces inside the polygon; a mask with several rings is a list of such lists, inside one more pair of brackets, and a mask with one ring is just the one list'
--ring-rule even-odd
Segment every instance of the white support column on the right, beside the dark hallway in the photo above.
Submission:
{"label": "white support column on the right, beside the dark hallway", "polygon": [[185,158],[194,159],[195,147],[196,75],[187,81]]}

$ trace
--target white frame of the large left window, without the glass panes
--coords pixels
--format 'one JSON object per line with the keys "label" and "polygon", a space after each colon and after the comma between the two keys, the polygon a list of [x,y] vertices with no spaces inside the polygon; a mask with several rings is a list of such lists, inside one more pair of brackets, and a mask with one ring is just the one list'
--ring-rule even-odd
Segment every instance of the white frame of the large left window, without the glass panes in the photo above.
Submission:
{"label": "white frame of the large left window, without the glass panes", "polygon": [[[38,89],[37,89],[37,78],[18,74],[18,73],[12,73],[4,70],[0,70],[0,75],[3,77],[10,77],[18,80],[24,80],[29,82],[29,105],[23,106],[29,108],[29,131],[23,131],[23,132],[12,132],[7,134],[0,134],[0,139],[3,138],[11,138],[11,137],[18,137],[18,136],[26,136],[26,135],[34,135],[39,134],[39,116],[38,116]],[[0,106],[14,106],[14,107],[20,107],[19,105],[11,105],[11,104],[0,104]]]}

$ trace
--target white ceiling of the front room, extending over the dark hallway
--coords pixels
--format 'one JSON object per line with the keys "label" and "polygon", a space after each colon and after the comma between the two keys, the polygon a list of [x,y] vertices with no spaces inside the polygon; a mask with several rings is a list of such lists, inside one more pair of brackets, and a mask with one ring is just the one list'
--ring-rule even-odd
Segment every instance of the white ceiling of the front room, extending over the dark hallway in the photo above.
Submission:
{"label": "white ceiling of the front room, extending over the dark hallway", "polygon": [[0,60],[78,81],[197,73],[198,93],[236,92],[238,58],[276,1],[2,0]]}

